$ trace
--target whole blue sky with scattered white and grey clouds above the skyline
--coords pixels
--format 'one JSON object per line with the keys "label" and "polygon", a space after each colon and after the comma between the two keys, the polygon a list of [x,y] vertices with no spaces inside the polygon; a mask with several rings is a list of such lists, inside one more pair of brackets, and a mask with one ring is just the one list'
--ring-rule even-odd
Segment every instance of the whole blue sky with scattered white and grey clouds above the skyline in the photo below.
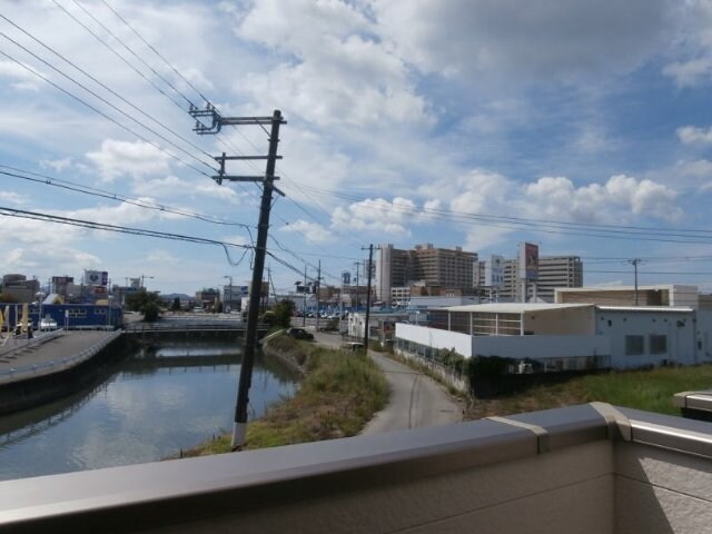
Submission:
{"label": "whole blue sky with scattered white and grey clouds above the skyline", "polygon": [[[711,1],[0,0],[0,14],[1,273],[246,284],[259,189],[218,186],[210,157],[265,152],[266,135],[196,136],[188,102],[205,97],[288,121],[278,289],[319,260],[338,284],[372,243],[486,258],[528,240],[582,256],[586,285],[631,285],[641,258],[641,284],[712,290]],[[8,209],[228,243],[241,263]]]}

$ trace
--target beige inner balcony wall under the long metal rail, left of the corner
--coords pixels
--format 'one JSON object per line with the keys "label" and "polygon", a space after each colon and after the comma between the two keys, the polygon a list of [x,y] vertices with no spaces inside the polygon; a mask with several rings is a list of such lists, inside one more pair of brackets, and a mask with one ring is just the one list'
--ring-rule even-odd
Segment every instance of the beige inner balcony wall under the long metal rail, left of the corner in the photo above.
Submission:
{"label": "beige inner balcony wall under the long metal rail, left of the corner", "polygon": [[596,443],[150,532],[612,534],[612,463]]}

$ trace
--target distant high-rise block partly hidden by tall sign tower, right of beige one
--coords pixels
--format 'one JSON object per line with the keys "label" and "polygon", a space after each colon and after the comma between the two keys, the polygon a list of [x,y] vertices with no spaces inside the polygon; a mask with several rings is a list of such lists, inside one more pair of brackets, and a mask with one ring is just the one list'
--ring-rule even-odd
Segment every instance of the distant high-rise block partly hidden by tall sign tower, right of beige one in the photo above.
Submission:
{"label": "distant high-rise block partly hidden by tall sign tower, right of beige one", "polygon": [[[522,280],[518,277],[517,260],[503,261],[504,277],[502,285],[496,288],[497,298],[502,301],[524,301]],[[484,289],[485,261],[475,265],[475,287]],[[557,287],[583,287],[583,263],[578,256],[540,256],[538,279],[530,283],[526,288],[526,299],[536,298],[548,303],[554,301],[554,289]]]}

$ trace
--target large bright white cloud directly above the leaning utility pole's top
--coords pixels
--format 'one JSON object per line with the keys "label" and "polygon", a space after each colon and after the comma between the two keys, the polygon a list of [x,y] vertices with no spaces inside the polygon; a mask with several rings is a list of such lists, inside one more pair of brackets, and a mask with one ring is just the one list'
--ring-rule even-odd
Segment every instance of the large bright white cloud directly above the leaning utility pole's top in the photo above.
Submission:
{"label": "large bright white cloud directly above the leaning utility pole's top", "polygon": [[416,93],[407,62],[374,30],[347,2],[257,2],[238,16],[237,34],[285,60],[267,76],[249,76],[238,90],[263,106],[289,102],[291,113],[319,125],[428,123],[428,105]]}

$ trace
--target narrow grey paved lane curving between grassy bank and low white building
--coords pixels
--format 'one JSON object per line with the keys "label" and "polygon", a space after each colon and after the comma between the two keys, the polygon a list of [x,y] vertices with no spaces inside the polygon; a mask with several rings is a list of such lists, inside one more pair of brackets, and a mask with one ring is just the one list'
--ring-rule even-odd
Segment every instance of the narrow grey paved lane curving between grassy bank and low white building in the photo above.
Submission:
{"label": "narrow grey paved lane curving between grassy bank and low white building", "polygon": [[[337,335],[317,333],[316,340],[340,346]],[[380,366],[390,385],[388,405],[366,425],[363,434],[441,426],[463,421],[462,403],[431,377],[373,350],[368,355]]]}

